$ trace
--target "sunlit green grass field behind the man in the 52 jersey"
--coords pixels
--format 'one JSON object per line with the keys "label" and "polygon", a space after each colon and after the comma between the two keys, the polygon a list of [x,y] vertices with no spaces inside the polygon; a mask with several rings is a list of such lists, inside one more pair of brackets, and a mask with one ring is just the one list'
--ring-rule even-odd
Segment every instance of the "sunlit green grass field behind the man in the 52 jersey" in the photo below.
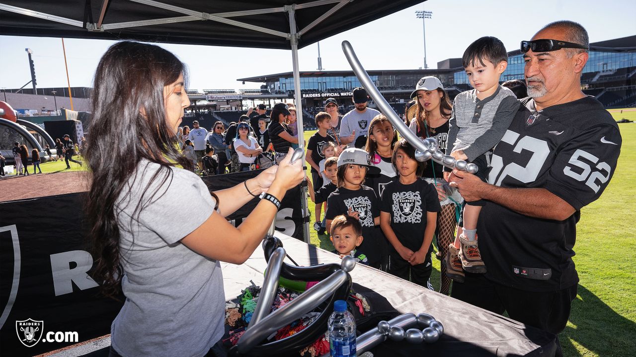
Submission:
{"label": "sunlit green grass field behind the man in the 52 jersey", "polygon": [[[636,121],[636,111],[611,111],[614,119]],[[629,222],[636,210],[636,123],[619,124],[623,147],[618,168],[601,198],[583,208],[577,224],[574,262],[578,295],[560,335],[565,356],[628,356],[636,351],[636,239]],[[314,134],[306,131],[305,139]],[[307,172],[309,174],[309,172]],[[314,205],[310,202],[314,222]],[[311,242],[333,250],[329,236],[311,229]],[[432,285],[439,290],[439,261]]]}

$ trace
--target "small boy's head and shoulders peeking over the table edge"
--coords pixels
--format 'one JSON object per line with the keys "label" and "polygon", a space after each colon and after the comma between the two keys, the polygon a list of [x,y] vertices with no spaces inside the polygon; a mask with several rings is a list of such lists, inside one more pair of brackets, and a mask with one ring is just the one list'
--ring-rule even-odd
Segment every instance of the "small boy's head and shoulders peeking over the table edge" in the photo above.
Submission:
{"label": "small boy's head and shoulders peeking over the table edge", "polygon": [[362,242],[362,226],[354,217],[339,215],[331,222],[331,243],[336,248],[331,253],[340,255],[340,259],[350,255],[356,259],[356,262],[369,265],[369,259],[360,249],[357,249]]}

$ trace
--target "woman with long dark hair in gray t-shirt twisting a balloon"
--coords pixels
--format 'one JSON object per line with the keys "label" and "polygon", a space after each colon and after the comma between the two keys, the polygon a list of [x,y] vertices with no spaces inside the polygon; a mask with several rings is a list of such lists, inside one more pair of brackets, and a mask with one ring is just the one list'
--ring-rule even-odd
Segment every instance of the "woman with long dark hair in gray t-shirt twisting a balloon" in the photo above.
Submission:
{"label": "woman with long dark hair in gray t-shirt twisting a balloon", "polygon": [[[275,202],[304,177],[289,152],[254,179],[209,192],[177,147],[190,105],[185,71],[159,46],[122,41],[95,72],[86,151],[92,277],[109,296],[121,286],[126,298],[111,327],[111,356],[217,355],[225,318],[219,262],[242,264],[265,236]],[[225,219],[261,192],[239,227]]]}

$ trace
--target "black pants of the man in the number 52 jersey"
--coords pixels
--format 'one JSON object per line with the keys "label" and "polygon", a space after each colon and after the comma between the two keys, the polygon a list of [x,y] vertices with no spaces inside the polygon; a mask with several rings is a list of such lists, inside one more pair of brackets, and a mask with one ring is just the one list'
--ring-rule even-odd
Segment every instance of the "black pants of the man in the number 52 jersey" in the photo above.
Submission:
{"label": "black pants of the man in the number 52 jersey", "polygon": [[[496,314],[508,311],[511,319],[555,335],[563,331],[578,285],[555,292],[528,292],[493,283],[483,274],[466,273],[464,283],[453,283],[451,296]],[[563,356],[556,339],[556,356]]]}

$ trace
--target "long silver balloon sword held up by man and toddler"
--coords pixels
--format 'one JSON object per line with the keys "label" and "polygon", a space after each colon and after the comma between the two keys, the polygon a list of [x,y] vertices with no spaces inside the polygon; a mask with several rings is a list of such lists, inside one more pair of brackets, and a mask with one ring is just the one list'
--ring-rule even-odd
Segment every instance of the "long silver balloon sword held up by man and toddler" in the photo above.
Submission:
{"label": "long silver balloon sword held up by man and toddler", "polygon": [[[378,105],[380,111],[382,111],[382,113],[387,118],[389,118],[389,121],[391,121],[391,124],[396,128],[400,135],[402,135],[402,137],[405,138],[406,141],[408,141],[411,145],[413,145],[413,147],[415,147],[415,149],[417,150],[415,152],[415,158],[418,161],[425,161],[432,158],[433,161],[435,161],[436,163],[444,165],[448,168],[457,168],[469,173],[477,172],[477,165],[471,166],[471,164],[468,164],[464,167],[464,169],[460,169],[455,166],[455,159],[452,156],[443,156],[443,152],[441,152],[441,157],[439,156],[439,154],[436,156],[435,153],[439,152],[437,140],[435,140],[434,138],[426,138],[425,140],[420,140],[420,138],[418,138],[417,135],[415,135],[415,133],[413,133],[413,131],[411,131],[408,126],[404,124],[402,119],[397,116],[396,112],[393,110],[391,105],[389,105],[387,100],[382,97],[382,94],[380,94],[378,88],[376,88],[375,84],[373,84],[373,81],[371,81],[371,77],[369,77],[369,74],[364,71],[362,64],[360,64],[360,61],[356,56],[356,52],[354,52],[354,49],[349,41],[342,41],[342,51],[345,53],[345,57],[347,57],[347,61],[349,61],[351,69],[358,77],[360,83],[364,86],[364,89],[366,89],[366,92],[371,98],[373,98],[375,104]],[[430,154],[427,154],[427,151]]]}

